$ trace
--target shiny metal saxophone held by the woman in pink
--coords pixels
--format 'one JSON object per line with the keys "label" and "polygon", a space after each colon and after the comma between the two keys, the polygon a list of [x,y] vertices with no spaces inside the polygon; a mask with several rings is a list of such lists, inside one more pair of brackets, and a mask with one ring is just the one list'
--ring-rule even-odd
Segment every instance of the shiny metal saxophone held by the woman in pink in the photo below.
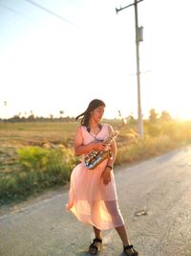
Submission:
{"label": "shiny metal saxophone held by the woman in pink", "polygon": [[[103,140],[103,145],[109,146],[111,142],[117,138],[119,131],[113,131],[106,139]],[[92,151],[84,158],[85,166],[88,169],[95,169],[98,164],[100,164],[106,158],[111,157],[111,152],[108,151]]]}

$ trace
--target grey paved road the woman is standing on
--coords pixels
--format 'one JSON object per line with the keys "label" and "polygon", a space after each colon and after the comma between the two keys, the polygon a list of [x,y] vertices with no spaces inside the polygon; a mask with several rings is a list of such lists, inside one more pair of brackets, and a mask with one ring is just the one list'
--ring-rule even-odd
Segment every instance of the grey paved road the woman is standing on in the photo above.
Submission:
{"label": "grey paved road the woman is standing on", "polygon": [[[142,256],[191,256],[191,147],[116,172],[119,205]],[[0,216],[1,256],[85,256],[92,228],[64,211],[68,194]],[[122,256],[116,230],[104,231],[100,256]]]}

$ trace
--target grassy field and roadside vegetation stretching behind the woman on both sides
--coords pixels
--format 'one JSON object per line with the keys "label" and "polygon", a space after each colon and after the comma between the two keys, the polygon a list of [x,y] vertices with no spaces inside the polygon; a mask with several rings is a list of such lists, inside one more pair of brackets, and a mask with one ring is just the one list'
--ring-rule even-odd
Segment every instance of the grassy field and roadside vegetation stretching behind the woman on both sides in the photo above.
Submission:
{"label": "grassy field and roadside vegetation stretching behind the woman on both sides", "polygon": [[[118,127],[120,121],[106,121]],[[63,186],[80,158],[74,156],[76,122],[0,123],[0,205]],[[151,111],[139,138],[132,117],[117,137],[116,165],[172,151],[191,143],[191,122]]]}

